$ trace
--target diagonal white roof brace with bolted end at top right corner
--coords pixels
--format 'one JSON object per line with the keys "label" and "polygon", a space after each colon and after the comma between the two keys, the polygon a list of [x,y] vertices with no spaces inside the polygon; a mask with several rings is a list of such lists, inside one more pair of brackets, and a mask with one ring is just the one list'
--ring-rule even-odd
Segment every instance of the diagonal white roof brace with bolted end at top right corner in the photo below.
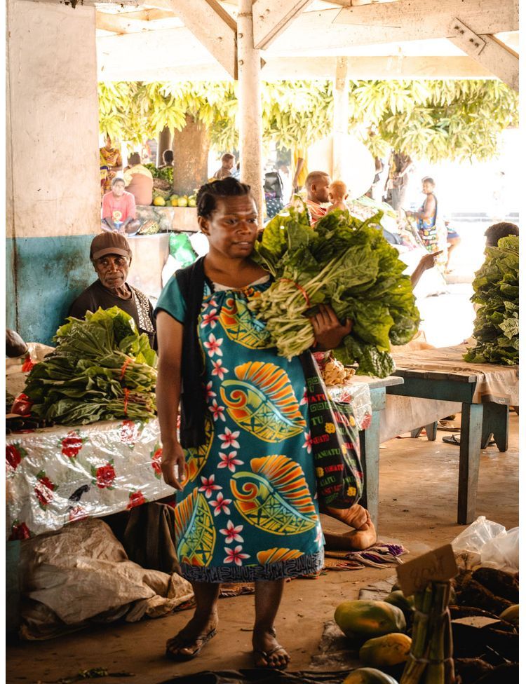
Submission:
{"label": "diagonal white roof brace with bolted end at top right corner", "polygon": [[498,76],[514,90],[519,89],[519,55],[494,36],[479,36],[459,19],[452,21],[450,41],[473,60]]}

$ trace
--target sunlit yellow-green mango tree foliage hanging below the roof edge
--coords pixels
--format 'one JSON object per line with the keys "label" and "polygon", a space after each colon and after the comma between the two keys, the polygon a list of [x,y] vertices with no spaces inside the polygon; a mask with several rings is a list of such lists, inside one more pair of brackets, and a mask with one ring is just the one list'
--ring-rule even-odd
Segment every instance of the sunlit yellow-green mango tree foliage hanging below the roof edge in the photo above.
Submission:
{"label": "sunlit yellow-green mango tree foliage hanging below the roof edge", "polygon": [[[139,143],[165,126],[203,121],[215,149],[238,146],[235,82],[100,83],[100,130]],[[332,130],[332,81],[262,84],[264,144],[311,144]],[[491,158],[499,134],[518,125],[518,94],[498,80],[351,81],[349,130],[375,156],[389,149],[431,162]]]}

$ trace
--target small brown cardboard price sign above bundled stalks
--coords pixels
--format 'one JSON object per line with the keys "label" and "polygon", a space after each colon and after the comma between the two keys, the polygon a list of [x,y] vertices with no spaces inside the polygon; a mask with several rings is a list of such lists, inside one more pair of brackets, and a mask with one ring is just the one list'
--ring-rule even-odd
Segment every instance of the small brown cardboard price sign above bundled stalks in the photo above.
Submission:
{"label": "small brown cardboard price sign above bundled stalks", "polygon": [[412,596],[415,591],[422,591],[429,582],[447,582],[458,572],[457,561],[450,544],[396,568],[398,582],[405,596]]}

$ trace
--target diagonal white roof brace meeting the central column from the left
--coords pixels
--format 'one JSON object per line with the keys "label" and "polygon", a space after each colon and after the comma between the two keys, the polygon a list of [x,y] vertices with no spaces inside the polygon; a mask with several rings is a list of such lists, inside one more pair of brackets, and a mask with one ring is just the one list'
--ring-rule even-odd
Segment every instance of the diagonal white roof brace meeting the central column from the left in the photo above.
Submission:
{"label": "diagonal white roof brace meeting the central column from the left", "polygon": [[[237,78],[236,22],[217,0],[163,0],[232,78]],[[168,46],[169,49],[169,46]]]}

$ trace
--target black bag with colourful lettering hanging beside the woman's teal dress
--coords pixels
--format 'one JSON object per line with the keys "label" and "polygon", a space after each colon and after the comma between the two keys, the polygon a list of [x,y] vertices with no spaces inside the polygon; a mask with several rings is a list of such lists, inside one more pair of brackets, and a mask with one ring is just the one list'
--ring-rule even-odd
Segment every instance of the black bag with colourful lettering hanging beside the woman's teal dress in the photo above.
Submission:
{"label": "black bag with colourful lettering hanging beside the woman's teal dress", "polygon": [[324,508],[348,509],[363,491],[358,426],[351,404],[333,402],[311,353],[301,356],[309,402],[309,423],[318,502]]}

